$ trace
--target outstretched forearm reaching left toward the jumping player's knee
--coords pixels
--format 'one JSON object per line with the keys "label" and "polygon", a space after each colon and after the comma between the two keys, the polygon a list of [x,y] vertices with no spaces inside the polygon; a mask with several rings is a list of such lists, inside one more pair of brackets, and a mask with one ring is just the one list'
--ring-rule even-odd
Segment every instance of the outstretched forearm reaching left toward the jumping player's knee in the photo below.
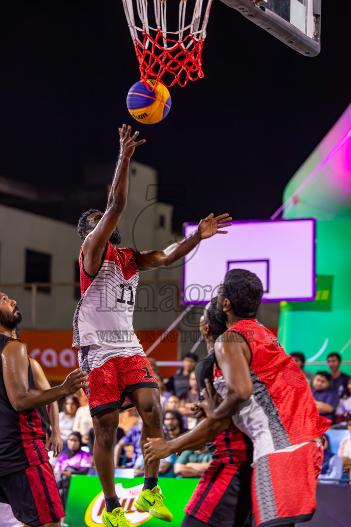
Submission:
{"label": "outstretched forearm reaching left toward the jumping player's knee", "polygon": [[197,450],[204,443],[213,441],[218,434],[226,430],[228,425],[228,421],[214,421],[205,417],[193,430],[168,441],[168,447],[171,448],[171,453]]}

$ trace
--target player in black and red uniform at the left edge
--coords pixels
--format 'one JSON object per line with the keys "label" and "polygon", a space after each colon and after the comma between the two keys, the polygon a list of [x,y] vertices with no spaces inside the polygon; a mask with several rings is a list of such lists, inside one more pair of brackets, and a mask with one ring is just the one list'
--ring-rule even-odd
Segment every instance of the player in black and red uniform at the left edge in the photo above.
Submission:
{"label": "player in black and red uniform at the left edge", "polygon": [[11,337],[21,319],[16,301],[0,293],[0,502],[24,527],[59,527],[65,513],[36,408],[88,385],[76,369],[62,385],[36,389],[27,350]]}

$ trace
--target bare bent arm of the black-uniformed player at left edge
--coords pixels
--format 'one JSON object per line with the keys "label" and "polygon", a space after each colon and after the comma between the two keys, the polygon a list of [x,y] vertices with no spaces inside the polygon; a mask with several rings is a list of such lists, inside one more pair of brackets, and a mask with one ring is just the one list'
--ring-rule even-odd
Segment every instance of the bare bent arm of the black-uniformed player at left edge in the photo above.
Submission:
{"label": "bare bent arm of the black-uniformed player at left edge", "polygon": [[3,378],[7,397],[17,412],[31,410],[38,406],[51,404],[57,399],[87,387],[85,372],[77,368],[70,373],[65,382],[50,389],[33,390],[28,387],[27,350],[18,340],[11,340],[3,349]]}

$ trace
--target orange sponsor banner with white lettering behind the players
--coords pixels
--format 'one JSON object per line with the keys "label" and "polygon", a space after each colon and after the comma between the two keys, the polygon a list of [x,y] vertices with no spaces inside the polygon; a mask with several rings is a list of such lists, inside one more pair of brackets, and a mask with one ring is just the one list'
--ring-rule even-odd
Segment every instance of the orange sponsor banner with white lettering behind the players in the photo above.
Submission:
{"label": "orange sponsor banner with white lettering behind the players", "polygon": [[[144,351],[163,334],[164,330],[136,331]],[[62,383],[67,375],[78,368],[77,352],[71,348],[73,331],[21,331],[19,338],[27,346],[28,355],[42,366],[51,383]],[[177,360],[179,331],[172,330],[152,352],[156,360]],[[177,368],[162,368],[161,373],[170,377]]]}

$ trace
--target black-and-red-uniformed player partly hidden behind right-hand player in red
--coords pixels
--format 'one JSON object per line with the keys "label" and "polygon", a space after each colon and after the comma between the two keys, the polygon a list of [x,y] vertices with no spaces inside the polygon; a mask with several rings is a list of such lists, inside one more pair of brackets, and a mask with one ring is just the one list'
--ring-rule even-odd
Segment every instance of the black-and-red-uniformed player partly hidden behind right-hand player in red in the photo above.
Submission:
{"label": "black-and-red-uniformed player partly hidden behind right-hand player in red", "polygon": [[[206,340],[208,355],[195,366],[199,393],[205,388],[205,379],[213,378],[215,340],[227,329],[225,323],[216,316],[216,302],[217,299],[213,298],[200,318],[200,332]],[[186,505],[182,527],[251,525],[250,464],[253,445],[231,419],[224,419],[222,424],[225,430],[207,443],[213,461],[203,473]],[[165,452],[171,455],[179,450],[188,450],[188,444],[192,449],[192,435],[193,431],[190,431],[167,442],[152,440],[145,445],[146,457],[162,458]],[[204,442],[204,438],[200,442]]]}

